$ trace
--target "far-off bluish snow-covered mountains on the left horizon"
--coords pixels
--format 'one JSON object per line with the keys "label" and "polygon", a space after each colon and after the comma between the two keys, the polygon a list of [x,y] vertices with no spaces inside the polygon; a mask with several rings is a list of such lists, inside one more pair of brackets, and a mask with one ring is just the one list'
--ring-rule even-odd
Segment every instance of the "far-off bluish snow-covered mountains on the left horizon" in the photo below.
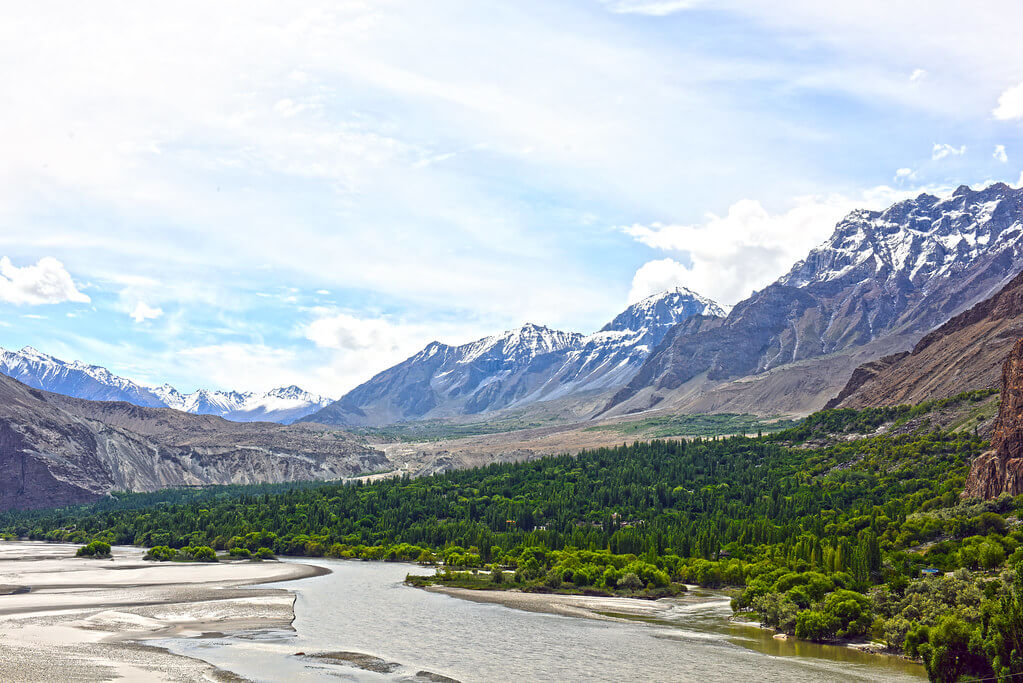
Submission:
{"label": "far-off bluish snow-covered mountains on the left horizon", "polygon": [[0,349],[0,372],[29,386],[79,399],[174,408],[197,415],[218,415],[236,422],[288,423],[331,401],[294,385],[266,393],[199,390],[182,394],[170,384],[145,386],[98,365],[63,361],[32,347],[16,352]]}

